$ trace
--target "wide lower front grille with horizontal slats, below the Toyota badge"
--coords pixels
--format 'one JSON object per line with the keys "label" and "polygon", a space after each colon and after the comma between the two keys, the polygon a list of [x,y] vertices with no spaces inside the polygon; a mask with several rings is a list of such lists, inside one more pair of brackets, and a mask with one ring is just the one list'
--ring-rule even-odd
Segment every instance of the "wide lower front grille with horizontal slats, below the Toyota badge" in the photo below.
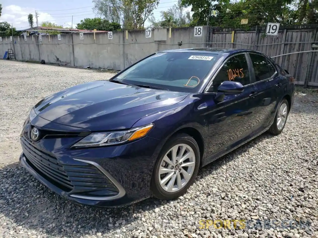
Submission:
{"label": "wide lower front grille with horizontal slats, below the Toyota badge", "polygon": [[57,184],[57,187],[79,194],[92,191],[93,194],[102,195],[102,190],[107,190],[107,195],[118,194],[114,184],[93,165],[62,165],[56,157],[39,150],[23,136],[21,136],[21,145],[28,163],[31,163],[41,176]]}

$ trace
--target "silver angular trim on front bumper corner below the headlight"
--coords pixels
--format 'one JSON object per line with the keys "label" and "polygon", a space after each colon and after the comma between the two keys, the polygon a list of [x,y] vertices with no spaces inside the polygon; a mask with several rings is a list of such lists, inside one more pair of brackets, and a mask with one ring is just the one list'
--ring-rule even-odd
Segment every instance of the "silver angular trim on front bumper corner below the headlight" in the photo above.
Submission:
{"label": "silver angular trim on front bumper corner below the headlight", "polygon": [[76,194],[72,194],[70,195],[70,197],[76,197],[76,198],[82,198],[82,199],[88,199],[88,200],[109,201],[109,200],[115,200],[115,199],[121,198],[126,194],[126,191],[121,186],[121,184],[117,182],[117,180],[112,175],[110,175],[103,167],[101,167],[98,163],[89,161],[89,160],[81,160],[81,159],[74,159],[74,158],[73,160],[88,163],[95,166],[118,188],[119,193],[115,196],[107,196],[107,197],[93,197],[93,196],[83,196],[83,195],[76,195]]}

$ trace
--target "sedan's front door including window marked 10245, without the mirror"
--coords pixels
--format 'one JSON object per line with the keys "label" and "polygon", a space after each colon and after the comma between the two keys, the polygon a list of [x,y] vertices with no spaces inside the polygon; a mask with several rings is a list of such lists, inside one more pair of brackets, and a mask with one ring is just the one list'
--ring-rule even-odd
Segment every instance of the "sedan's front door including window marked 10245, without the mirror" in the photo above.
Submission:
{"label": "sedan's front door including window marked 10245, without the mirror", "polygon": [[245,54],[229,58],[213,79],[213,91],[228,80],[243,84],[244,91],[237,95],[227,95],[216,103],[214,95],[207,102],[206,120],[209,124],[208,155],[213,155],[233,143],[252,134],[257,117],[257,88],[251,84],[250,69]]}

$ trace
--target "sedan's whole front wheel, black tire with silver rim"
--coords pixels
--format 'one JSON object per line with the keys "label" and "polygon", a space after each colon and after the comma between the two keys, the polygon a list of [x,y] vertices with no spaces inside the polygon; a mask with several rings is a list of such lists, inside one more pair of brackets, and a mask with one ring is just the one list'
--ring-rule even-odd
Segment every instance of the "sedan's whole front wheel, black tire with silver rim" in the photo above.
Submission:
{"label": "sedan's whole front wheel, black tire with silver rim", "polygon": [[[176,148],[179,149],[176,150]],[[183,156],[180,155],[182,148],[185,148]],[[177,157],[175,161],[171,161],[171,149],[176,150]],[[181,157],[189,158],[180,164]],[[163,160],[164,158],[165,160]],[[167,159],[169,159],[169,161],[167,161]],[[178,161],[178,163],[176,163],[176,161]],[[184,164],[189,164],[190,166],[185,166]],[[165,143],[157,158],[151,178],[152,194],[161,200],[173,200],[183,195],[194,182],[199,166],[200,151],[197,142],[187,134],[178,134],[171,137]],[[168,172],[159,175],[159,170],[161,173],[164,171]],[[185,172],[189,173],[185,174]],[[163,185],[161,185],[160,181],[164,182]],[[172,184],[172,181],[175,182]]]}

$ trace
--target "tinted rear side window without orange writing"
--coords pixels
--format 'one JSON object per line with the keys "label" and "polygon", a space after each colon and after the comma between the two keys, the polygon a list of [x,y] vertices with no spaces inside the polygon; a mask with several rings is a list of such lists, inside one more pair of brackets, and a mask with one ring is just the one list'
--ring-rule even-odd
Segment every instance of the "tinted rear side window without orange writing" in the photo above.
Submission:
{"label": "tinted rear side window without orange writing", "polygon": [[250,54],[252,65],[255,72],[255,81],[261,81],[270,78],[273,74],[270,73],[267,59],[258,54]]}

